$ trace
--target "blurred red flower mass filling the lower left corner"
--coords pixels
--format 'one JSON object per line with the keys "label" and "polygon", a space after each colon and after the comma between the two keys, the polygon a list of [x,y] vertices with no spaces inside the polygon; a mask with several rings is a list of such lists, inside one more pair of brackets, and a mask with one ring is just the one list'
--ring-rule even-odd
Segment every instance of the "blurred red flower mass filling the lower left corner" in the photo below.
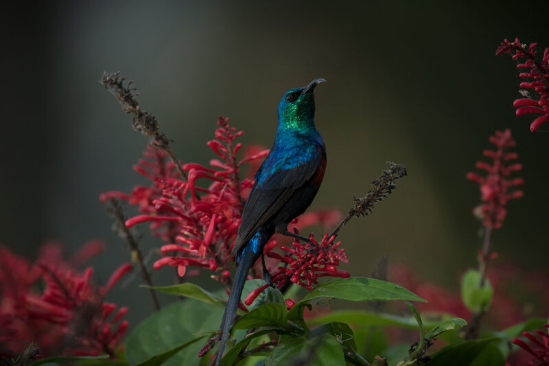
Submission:
{"label": "blurred red flower mass filling the lower left corner", "polygon": [[[128,308],[104,302],[110,288],[132,270],[122,265],[106,286],[91,283],[93,269],[75,269],[102,250],[91,241],[69,260],[58,243],[40,248],[36,263],[0,246],[0,340],[2,356],[13,356],[34,343],[40,354],[115,355],[128,321]],[[39,289],[42,289],[41,291]]]}

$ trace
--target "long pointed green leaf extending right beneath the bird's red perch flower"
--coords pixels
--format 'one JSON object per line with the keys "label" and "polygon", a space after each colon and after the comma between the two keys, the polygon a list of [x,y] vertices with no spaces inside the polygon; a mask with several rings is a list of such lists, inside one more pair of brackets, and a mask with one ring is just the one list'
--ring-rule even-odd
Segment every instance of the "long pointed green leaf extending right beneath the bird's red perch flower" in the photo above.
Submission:
{"label": "long pointed green leaf extending right beneath the bird's red perch flower", "polygon": [[288,313],[288,319],[303,319],[303,308],[309,301],[319,297],[336,297],[351,301],[387,301],[410,300],[425,302],[421,297],[390,282],[365,277],[337,278],[316,286],[305,295],[303,300],[294,305]]}

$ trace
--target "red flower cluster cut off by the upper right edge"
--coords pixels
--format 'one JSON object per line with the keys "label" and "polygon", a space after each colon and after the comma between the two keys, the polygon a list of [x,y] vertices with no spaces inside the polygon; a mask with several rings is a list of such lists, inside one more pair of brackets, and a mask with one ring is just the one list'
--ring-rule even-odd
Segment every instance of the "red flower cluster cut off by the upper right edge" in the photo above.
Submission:
{"label": "red flower cluster cut off by the upper right edge", "polygon": [[520,83],[520,93],[525,97],[516,99],[513,106],[517,108],[517,116],[523,114],[541,114],[531,124],[530,130],[536,131],[539,126],[549,121],[549,47],[544,51],[541,60],[537,59],[537,43],[522,45],[518,38],[514,42],[504,40],[495,51],[496,55],[502,53],[515,53],[513,60],[519,60],[517,69],[526,69],[519,73],[525,81]]}

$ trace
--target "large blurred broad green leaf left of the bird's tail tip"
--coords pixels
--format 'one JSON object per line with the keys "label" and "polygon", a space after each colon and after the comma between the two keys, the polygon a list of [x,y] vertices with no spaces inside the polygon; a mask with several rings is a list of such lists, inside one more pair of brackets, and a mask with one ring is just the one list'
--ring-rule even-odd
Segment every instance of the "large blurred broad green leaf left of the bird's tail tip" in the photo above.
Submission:
{"label": "large blurred broad green leaf left of the bird's tail tip", "polygon": [[[196,339],[196,334],[216,330],[223,309],[213,304],[186,299],[174,302],[154,313],[126,338],[126,359],[130,365],[148,361]],[[198,365],[201,343],[192,343],[164,363],[167,366]]]}

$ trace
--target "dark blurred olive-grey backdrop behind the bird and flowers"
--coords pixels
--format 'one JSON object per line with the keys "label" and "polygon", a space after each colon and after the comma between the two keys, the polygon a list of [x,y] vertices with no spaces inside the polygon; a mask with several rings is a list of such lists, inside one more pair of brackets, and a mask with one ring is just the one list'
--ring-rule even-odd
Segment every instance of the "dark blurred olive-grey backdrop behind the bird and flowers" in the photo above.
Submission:
{"label": "dark blurred olive-grey backdrop behind the bird and flowers", "polygon": [[[380,256],[458,288],[476,267],[478,185],[465,179],[494,130],[511,127],[524,198],[509,204],[493,249],[526,271],[549,254],[549,134],[515,117],[519,78],[503,38],[549,46],[547,1],[57,1],[8,5],[1,22],[0,242],[34,257],[59,239],[74,252],[104,239],[97,282],[128,260],[98,201],[130,191],[148,140],[98,80],[121,71],[185,162],[207,164],[216,117],[244,143],[270,146],[285,90],[315,77],[316,125],[328,151],[314,208],[346,212],[386,160],[409,175],[373,215],[340,234],[344,267],[369,276]],[[131,211],[130,211],[131,212]],[[143,227],[145,253],[159,246]],[[170,273],[168,273],[170,272]],[[156,284],[172,271],[154,273]],[[137,324],[152,306],[134,280],[109,294]],[[215,283],[205,280],[204,286]],[[162,297],[163,303],[172,301]]]}

